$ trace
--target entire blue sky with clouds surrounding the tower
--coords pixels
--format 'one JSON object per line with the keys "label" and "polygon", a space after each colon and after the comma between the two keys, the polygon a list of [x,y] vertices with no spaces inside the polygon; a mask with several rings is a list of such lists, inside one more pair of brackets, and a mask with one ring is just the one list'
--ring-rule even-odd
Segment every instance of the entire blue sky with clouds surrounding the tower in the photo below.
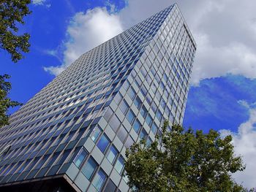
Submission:
{"label": "entire blue sky with clouds surrounding the tower", "polygon": [[233,177],[255,187],[255,0],[34,0],[20,26],[30,52],[13,64],[0,50],[0,74],[12,76],[10,97],[26,103],[79,55],[175,2],[197,42],[184,127],[231,134],[246,164]]}

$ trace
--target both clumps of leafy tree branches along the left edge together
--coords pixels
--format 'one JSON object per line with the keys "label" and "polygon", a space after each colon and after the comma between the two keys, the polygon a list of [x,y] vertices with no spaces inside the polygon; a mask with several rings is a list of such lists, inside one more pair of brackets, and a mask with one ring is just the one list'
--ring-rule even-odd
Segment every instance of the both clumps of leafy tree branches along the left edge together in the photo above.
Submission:
{"label": "both clumps of leafy tree branches along the left edge together", "polygon": [[[0,0],[0,48],[10,53],[12,61],[18,62],[23,53],[29,52],[29,34],[20,34],[19,23],[24,24],[23,17],[29,15],[30,0]],[[20,105],[8,98],[11,89],[10,76],[0,75],[0,127],[8,124],[10,107]]]}

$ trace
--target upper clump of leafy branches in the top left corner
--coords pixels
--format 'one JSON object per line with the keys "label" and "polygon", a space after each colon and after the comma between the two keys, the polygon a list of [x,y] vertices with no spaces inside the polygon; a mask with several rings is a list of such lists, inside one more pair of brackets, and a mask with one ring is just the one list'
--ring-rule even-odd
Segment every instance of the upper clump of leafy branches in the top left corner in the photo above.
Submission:
{"label": "upper clump of leafy branches in the top left corner", "polygon": [[18,23],[24,24],[23,17],[29,15],[30,0],[0,0],[0,48],[10,53],[17,62],[29,52],[29,34],[18,34]]}

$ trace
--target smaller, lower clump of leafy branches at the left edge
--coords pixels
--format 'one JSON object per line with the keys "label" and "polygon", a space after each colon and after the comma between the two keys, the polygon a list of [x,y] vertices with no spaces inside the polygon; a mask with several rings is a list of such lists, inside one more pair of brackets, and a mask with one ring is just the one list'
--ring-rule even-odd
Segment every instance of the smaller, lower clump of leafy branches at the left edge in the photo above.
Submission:
{"label": "smaller, lower clump of leafy branches at the left edge", "polygon": [[0,127],[8,125],[9,115],[7,111],[10,107],[21,105],[17,101],[12,101],[8,98],[8,93],[12,88],[11,83],[6,80],[9,79],[8,74],[0,75]]}

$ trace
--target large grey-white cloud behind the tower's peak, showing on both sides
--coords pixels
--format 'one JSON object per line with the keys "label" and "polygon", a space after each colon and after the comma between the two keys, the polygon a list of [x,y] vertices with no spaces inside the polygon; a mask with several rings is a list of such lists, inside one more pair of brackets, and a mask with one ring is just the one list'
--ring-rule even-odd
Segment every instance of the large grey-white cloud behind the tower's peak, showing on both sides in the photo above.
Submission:
{"label": "large grey-white cloud behind the tower's peak, showing on both sides", "polygon": [[[125,28],[173,1],[129,0],[119,13]],[[225,74],[256,78],[256,1],[181,0],[178,6],[197,42],[192,85]]]}

